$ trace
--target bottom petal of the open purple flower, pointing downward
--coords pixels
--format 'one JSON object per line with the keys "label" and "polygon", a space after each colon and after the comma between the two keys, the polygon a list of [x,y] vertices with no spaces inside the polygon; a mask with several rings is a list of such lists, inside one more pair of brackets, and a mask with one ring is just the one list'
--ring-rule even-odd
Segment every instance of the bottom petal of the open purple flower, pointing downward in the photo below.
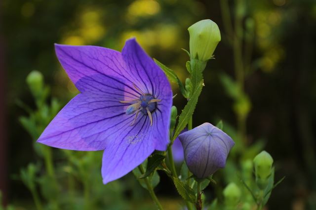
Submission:
{"label": "bottom petal of the open purple flower, pointing downward", "polygon": [[[143,118],[145,116],[143,115]],[[103,153],[103,183],[126,175],[152,154],[155,142],[151,139],[150,120],[140,120],[124,138],[112,140]]]}

